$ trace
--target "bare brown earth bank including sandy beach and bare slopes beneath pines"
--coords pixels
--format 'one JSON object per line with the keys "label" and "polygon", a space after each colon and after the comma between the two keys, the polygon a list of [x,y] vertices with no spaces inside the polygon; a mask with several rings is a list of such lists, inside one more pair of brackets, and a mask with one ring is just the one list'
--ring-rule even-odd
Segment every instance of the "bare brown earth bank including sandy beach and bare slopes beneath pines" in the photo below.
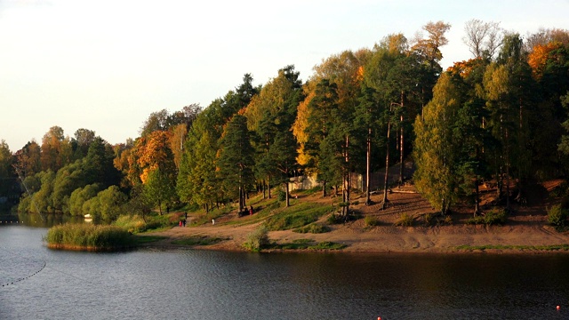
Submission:
{"label": "bare brown earth bank including sandy beach and bare slopes beneath pines", "polygon": [[[363,216],[371,216],[378,225],[368,227],[365,219],[350,221],[345,224],[329,225],[330,232],[322,234],[301,234],[293,230],[270,231],[268,238],[276,244],[288,244],[302,239],[315,243],[333,242],[345,244],[339,252],[493,252],[493,253],[540,253],[568,252],[569,232],[558,232],[549,226],[547,210],[550,202],[541,199],[531,205],[514,206],[503,226],[471,225],[466,221],[472,216],[469,208],[458,208],[453,212],[451,221],[425,227],[422,219],[434,213],[430,205],[413,187],[408,187],[390,194],[389,207],[380,208],[379,195],[373,196],[375,205],[358,204],[354,210]],[[318,196],[306,196],[301,201],[333,202],[333,198],[321,199]],[[414,217],[413,227],[396,227],[393,222],[402,213]],[[325,224],[325,217],[319,223]],[[148,235],[164,236],[156,246],[175,247],[172,244],[190,236],[208,236],[222,239],[211,245],[199,246],[200,249],[244,251],[242,244],[247,235],[258,228],[262,221],[253,221],[254,215],[238,218],[228,214],[216,220],[216,223],[198,227],[175,227]]]}

